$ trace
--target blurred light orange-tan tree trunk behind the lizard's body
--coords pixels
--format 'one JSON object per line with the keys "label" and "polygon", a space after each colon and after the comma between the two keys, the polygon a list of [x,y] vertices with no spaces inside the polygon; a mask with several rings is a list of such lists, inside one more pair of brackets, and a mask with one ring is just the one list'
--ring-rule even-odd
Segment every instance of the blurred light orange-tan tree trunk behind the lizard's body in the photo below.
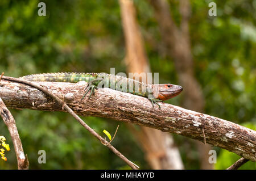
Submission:
{"label": "blurred light orange-tan tree trunk behind the lizard's body", "polygon": [[[127,72],[148,73],[150,66],[136,20],[133,1],[119,0],[119,4],[126,42]],[[148,127],[141,127],[139,131],[133,129],[133,125],[128,128],[133,131],[139,141],[152,169],[184,169],[179,150],[171,134]]]}

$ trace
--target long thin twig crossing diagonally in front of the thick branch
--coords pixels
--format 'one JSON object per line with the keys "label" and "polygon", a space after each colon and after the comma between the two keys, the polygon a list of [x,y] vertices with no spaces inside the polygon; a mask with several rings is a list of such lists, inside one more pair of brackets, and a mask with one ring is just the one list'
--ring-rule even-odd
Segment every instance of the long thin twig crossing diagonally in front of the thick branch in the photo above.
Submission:
{"label": "long thin twig crossing diagonally in front of the thick branch", "polygon": [[[6,79],[8,81],[15,81],[15,82],[20,82],[20,83],[24,83],[26,85],[35,87],[36,89],[44,92],[45,94],[48,94],[49,96],[51,96],[51,98],[53,98],[54,100],[56,100],[60,105],[63,105],[63,107],[65,108],[65,110],[67,110],[73,117],[75,117],[75,119],[77,121],[79,121],[79,123],[85,128],[87,129],[90,133],[93,134],[94,137],[96,137],[98,140],[100,140],[101,142],[103,142],[104,144],[108,144],[108,141],[104,140],[104,138],[102,138],[97,132],[95,132],[92,128],[90,128],[79,116],[77,116],[77,114],[75,112],[73,112],[73,110],[71,110],[71,108],[69,108],[67,106],[67,104],[65,102],[63,102],[63,100],[61,100],[60,98],[58,98],[56,95],[52,94],[51,92],[49,92],[46,88],[34,83],[34,82],[30,82],[30,81],[26,81],[23,79],[19,79],[19,78],[14,78],[14,77],[6,77],[3,76],[3,79]],[[120,153],[117,149],[114,148],[114,146],[112,146],[111,144],[107,145],[108,148],[110,150],[112,150],[116,155],[118,155],[119,158],[121,158],[123,161],[125,161],[127,163],[127,165],[129,165],[131,167],[131,169],[137,170],[139,167],[137,165],[135,165],[133,162],[129,161],[129,159],[127,159],[122,153]]]}

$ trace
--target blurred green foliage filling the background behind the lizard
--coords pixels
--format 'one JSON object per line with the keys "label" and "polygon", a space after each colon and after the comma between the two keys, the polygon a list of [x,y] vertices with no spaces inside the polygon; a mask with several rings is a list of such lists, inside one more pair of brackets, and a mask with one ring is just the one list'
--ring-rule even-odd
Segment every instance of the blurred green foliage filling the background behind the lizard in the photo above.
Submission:
{"label": "blurred green foliage filling the background behind the lizard", "polygon": [[[0,1],[0,71],[20,77],[58,71],[126,72],[125,39],[118,1],[43,1],[47,16],[38,16],[40,1]],[[160,83],[177,83],[172,58],[161,40],[152,7],[135,0],[152,72]],[[217,16],[208,16],[208,3],[193,1],[190,19],[195,75],[205,97],[205,113],[247,125],[256,122],[256,1],[214,1]],[[179,24],[179,2],[170,1]],[[189,89],[189,87],[187,87]],[[167,103],[178,104],[182,94]],[[11,110],[31,169],[129,169],[108,148],[92,137],[68,113]],[[143,151],[122,123],[83,117],[101,136],[115,132],[113,145],[142,169],[149,169]],[[9,132],[0,123],[11,151],[0,169],[16,169]],[[190,139],[175,136],[186,169],[199,169],[198,152]],[[47,163],[38,163],[38,150],[46,150]],[[234,163],[237,155],[216,149],[216,169]],[[248,162],[244,169],[256,169]]]}

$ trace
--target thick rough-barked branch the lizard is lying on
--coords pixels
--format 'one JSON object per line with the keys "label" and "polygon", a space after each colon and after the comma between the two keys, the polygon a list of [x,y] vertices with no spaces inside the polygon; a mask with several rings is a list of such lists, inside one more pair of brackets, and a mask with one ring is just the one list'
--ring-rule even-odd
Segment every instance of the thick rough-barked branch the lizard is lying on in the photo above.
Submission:
{"label": "thick rough-barked branch the lizard is lying on", "polygon": [[[38,83],[64,99],[68,106],[81,116],[108,117],[181,134],[202,142],[205,139],[210,145],[219,146],[256,161],[256,132],[230,121],[166,103],[160,103],[161,110],[156,106],[153,109],[146,98],[108,88],[98,89],[92,98],[88,99],[86,96],[81,101],[84,87],[87,85],[84,81]],[[59,103],[41,91],[16,82],[2,80],[0,96],[6,106],[11,108],[65,111]]]}

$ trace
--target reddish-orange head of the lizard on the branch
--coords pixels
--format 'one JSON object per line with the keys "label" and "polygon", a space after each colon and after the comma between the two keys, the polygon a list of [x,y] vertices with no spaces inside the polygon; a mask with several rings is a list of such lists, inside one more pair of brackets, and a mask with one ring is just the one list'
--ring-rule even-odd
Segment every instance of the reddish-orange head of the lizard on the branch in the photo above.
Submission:
{"label": "reddish-orange head of the lizard on the branch", "polygon": [[167,100],[179,95],[183,90],[181,86],[173,85],[170,83],[158,85],[158,99]]}

